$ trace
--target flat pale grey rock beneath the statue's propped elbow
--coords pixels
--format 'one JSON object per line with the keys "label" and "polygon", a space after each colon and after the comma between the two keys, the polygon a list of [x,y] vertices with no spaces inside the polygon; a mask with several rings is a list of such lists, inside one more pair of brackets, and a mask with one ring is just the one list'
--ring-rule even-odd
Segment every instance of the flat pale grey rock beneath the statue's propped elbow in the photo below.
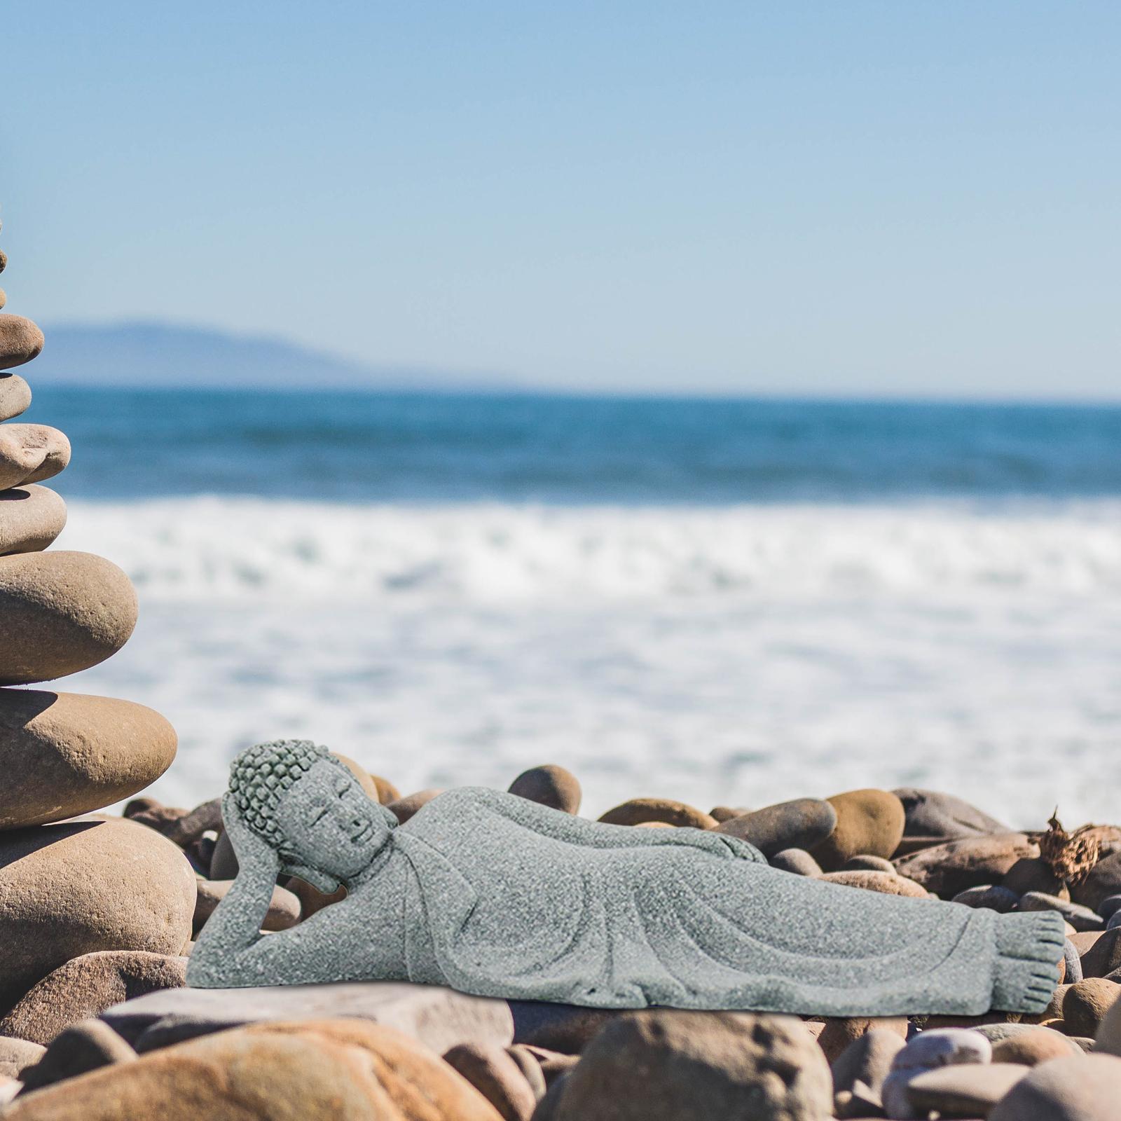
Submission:
{"label": "flat pale grey rock beneath the statue's propped elbow", "polygon": [[397,1028],[437,1055],[456,1044],[506,1047],[513,1039],[513,1017],[504,1000],[469,997],[439,985],[391,981],[167,989],[127,1000],[101,1013],[102,1020],[142,1050],[243,1023],[334,1017]]}

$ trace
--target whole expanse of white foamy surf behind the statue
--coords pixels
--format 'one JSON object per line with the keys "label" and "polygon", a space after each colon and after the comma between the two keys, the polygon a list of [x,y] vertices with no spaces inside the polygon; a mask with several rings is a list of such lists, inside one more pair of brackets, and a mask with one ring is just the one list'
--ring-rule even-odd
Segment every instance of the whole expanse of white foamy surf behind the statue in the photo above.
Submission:
{"label": "whole expanse of white foamy surf behind the statue", "polygon": [[1117,819],[1121,504],[72,504],[141,621],[67,687],[166,713],[156,794],[309,735],[402,788],[555,761],[597,812],[954,790]]}

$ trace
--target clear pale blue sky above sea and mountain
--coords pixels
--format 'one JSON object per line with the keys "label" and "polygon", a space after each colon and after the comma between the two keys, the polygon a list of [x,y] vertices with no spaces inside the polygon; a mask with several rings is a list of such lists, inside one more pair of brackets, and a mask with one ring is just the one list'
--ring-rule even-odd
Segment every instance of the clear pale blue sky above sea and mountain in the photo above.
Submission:
{"label": "clear pale blue sky above sea and mountain", "polygon": [[1121,396],[1113,0],[35,0],[0,44],[2,282],[48,325]]}

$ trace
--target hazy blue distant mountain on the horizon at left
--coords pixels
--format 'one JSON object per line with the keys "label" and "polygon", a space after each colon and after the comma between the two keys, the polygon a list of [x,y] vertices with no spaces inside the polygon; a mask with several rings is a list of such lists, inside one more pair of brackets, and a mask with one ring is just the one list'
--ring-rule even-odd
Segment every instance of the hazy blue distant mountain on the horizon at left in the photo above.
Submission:
{"label": "hazy blue distant mountain on the horizon at left", "polygon": [[35,361],[39,385],[261,389],[473,390],[512,381],[354,362],[281,339],[166,323],[57,324]]}

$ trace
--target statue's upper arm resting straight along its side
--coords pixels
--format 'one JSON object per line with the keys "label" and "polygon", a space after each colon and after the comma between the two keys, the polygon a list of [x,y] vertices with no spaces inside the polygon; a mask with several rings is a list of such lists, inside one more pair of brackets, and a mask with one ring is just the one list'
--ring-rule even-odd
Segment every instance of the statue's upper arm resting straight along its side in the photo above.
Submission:
{"label": "statue's upper arm resting straight along its side", "polygon": [[[507,821],[521,825],[541,836],[590,849],[648,849],[663,845],[687,845],[715,856],[763,861],[759,851],[747,841],[724,833],[706,830],[637,828],[633,825],[608,825],[590,822],[574,814],[565,814],[549,806],[530,802],[516,794],[504,794],[487,787],[460,787],[442,794],[436,802],[457,799],[483,807]],[[452,808],[448,806],[448,808]]]}

